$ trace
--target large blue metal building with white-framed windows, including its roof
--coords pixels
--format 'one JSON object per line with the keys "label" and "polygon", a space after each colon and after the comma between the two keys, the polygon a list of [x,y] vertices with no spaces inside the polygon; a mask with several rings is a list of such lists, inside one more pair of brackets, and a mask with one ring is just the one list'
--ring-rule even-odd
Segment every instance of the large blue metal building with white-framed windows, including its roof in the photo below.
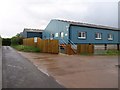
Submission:
{"label": "large blue metal building with white-framed windows, including its roof", "polygon": [[119,33],[118,28],[54,19],[43,31],[43,39],[58,39],[61,44],[120,44]]}

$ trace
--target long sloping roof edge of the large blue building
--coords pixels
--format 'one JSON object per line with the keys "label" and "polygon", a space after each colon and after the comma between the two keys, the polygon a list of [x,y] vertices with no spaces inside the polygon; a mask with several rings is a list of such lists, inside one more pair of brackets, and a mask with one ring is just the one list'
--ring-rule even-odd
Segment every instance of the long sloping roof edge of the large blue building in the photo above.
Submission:
{"label": "long sloping roof edge of the large blue building", "polygon": [[67,21],[67,20],[58,20],[57,21],[67,22],[70,25],[78,25],[78,26],[84,26],[84,27],[93,27],[93,28],[100,28],[100,29],[109,29],[109,30],[119,30],[115,27],[109,27],[109,26],[103,26],[103,25],[95,25],[95,24],[88,24],[88,23],[81,23],[81,22],[74,22],[74,21]]}

